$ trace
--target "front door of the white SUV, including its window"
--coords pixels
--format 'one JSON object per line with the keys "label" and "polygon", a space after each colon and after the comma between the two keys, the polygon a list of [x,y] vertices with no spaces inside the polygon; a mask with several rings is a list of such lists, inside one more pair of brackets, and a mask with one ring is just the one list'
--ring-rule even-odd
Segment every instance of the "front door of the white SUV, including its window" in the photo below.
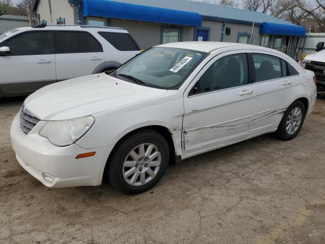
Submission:
{"label": "front door of the white SUV, including its window", "polygon": [[0,56],[0,90],[4,95],[31,93],[56,81],[53,32],[18,34],[0,46],[11,54]]}

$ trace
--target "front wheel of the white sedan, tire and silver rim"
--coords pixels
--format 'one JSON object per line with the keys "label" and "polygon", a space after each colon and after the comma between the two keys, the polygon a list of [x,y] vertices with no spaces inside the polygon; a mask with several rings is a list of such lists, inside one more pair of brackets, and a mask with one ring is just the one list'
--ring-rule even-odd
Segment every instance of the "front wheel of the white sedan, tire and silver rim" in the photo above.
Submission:
{"label": "front wheel of the white sedan, tire and silver rim", "polygon": [[[154,130],[136,131],[115,148],[108,162],[108,178],[111,186],[119,192],[133,195],[147,191],[157,184],[167,169],[168,142]],[[148,153],[150,149],[150,154],[141,153]]]}

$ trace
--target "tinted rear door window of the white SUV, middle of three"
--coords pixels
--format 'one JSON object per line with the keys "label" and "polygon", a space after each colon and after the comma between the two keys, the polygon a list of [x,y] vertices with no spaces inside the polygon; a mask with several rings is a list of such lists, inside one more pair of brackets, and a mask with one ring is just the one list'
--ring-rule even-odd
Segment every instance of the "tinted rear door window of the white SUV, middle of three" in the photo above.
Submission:
{"label": "tinted rear door window of the white SUV, middle of three", "polygon": [[56,32],[56,53],[82,52],[103,52],[103,47],[88,32]]}

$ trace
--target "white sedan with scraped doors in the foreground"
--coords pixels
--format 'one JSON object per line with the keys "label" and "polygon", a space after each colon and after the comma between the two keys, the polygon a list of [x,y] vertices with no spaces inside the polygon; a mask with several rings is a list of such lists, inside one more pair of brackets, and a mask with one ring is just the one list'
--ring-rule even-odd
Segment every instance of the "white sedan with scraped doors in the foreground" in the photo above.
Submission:
{"label": "white sedan with scraped doors in the foreground", "polygon": [[273,49],[224,42],[153,47],[114,72],[30,95],[13,120],[20,165],[47,187],[153,187],[169,163],[275,132],[299,133],[314,74]]}

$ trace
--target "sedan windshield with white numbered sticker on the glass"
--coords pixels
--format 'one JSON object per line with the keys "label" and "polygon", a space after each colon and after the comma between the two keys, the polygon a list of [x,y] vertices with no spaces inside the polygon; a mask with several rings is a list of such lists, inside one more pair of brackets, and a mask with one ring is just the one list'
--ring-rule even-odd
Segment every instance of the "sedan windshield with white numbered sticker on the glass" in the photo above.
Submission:
{"label": "sedan windshield with white numbered sticker on the glass", "polygon": [[129,60],[111,75],[140,85],[176,89],[206,55],[193,50],[154,47]]}

